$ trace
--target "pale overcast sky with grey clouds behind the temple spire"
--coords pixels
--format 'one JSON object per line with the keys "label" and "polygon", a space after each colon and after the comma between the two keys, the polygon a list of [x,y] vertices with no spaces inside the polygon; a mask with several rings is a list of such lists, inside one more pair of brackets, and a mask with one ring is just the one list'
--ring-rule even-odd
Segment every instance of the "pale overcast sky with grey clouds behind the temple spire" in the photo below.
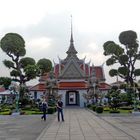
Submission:
{"label": "pale overcast sky with grey clouds behind the temple spire", "polygon": [[[9,32],[20,34],[26,42],[26,56],[58,62],[66,57],[73,16],[75,48],[79,58],[86,56],[94,65],[107,59],[103,44],[117,43],[120,32],[134,30],[140,35],[139,0],[0,0],[0,39]],[[9,76],[0,49],[0,77]],[[137,64],[137,67],[140,65]],[[114,82],[104,65],[108,83]]]}

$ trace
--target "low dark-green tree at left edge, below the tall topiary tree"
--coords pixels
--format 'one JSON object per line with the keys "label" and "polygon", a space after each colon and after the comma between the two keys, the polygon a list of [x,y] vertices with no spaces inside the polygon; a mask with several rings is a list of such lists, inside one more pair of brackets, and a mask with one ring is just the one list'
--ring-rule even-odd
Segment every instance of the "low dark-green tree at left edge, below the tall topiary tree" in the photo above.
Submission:
{"label": "low dark-green tree at left edge, below the tall topiary tree", "polygon": [[10,84],[11,84],[11,78],[9,78],[9,77],[0,77],[0,85],[3,85],[5,89],[8,89]]}

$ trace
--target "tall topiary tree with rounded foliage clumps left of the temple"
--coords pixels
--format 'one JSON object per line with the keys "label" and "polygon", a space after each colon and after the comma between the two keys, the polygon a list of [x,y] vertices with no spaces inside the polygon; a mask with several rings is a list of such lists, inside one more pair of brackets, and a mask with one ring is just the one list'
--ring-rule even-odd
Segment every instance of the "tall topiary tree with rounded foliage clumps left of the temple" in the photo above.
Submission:
{"label": "tall topiary tree with rounded foliage clumps left of the temple", "polygon": [[[11,58],[11,60],[4,60],[4,65],[9,68],[12,79],[20,85],[20,98],[22,100],[24,90],[21,90],[27,81],[30,81],[36,76],[40,76],[40,72],[43,74],[52,65],[49,60],[41,63],[42,67],[38,67],[35,60],[30,57],[24,57],[26,54],[25,41],[17,33],[7,33],[0,42],[1,49]],[[40,61],[38,64],[40,64]],[[42,62],[42,61],[41,61]],[[46,65],[47,63],[47,65]],[[48,66],[48,67],[47,67]],[[41,71],[40,71],[41,69]],[[49,69],[47,69],[49,71]],[[23,87],[22,87],[23,86]]]}

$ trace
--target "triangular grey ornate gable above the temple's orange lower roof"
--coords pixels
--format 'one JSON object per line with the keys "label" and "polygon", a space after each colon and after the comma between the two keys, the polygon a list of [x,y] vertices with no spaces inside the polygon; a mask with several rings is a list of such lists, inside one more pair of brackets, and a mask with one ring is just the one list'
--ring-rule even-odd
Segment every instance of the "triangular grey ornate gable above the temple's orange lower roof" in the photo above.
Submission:
{"label": "triangular grey ornate gable above the temple's orange lower roof", "polygon": [[85,73],[80,66],[73,59],[65,65],[62,73],[59,75],[60,79],[81,79],[85,77]]}

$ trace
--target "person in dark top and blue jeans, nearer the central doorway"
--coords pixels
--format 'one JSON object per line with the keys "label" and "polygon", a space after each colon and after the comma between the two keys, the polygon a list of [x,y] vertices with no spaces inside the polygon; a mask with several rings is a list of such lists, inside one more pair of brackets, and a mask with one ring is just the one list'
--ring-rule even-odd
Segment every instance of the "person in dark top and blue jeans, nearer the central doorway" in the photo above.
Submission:
{"label": "person in dark top and blue jeans, nearer the central doorway", "polygon": [[61,114],[61,119],[64,122],[63,102],[61,100],[58,100],[57,102],[57,112],[58,112],[58,121],[60,121],[60,114]]}

